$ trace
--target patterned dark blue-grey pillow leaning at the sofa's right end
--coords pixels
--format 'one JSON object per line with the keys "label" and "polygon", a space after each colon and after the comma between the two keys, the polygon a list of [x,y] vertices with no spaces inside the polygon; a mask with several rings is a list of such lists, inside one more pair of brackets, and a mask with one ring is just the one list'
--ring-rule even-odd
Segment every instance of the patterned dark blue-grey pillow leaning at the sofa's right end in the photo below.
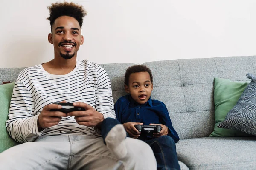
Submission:
{"label": "patterned dark blue-grey pillow leaning at the sofa's right end", "polygon": [[235,129],[256,136],[256,77],[247,73],[251,82],[244,89],[236,105],[217,127]]}

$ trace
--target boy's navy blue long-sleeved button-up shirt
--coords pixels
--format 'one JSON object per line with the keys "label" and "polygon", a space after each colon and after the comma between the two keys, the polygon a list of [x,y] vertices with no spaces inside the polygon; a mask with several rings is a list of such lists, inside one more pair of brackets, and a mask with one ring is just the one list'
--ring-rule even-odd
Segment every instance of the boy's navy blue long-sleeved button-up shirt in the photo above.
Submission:
{"label": "boy's navy blue long-sleeved button-up shirt", "polygon": [[175,143],[180,140],[177,132],[172,127],[168,110],[163,102],[152,100],[150,97],[145,104],[140,105],[128,94],[116,101],[115,111],[117,120],[122,124],[127,122],[140,122],[144,125],[150,123],[163,124],[168,127],[168,136],[172,137]]}

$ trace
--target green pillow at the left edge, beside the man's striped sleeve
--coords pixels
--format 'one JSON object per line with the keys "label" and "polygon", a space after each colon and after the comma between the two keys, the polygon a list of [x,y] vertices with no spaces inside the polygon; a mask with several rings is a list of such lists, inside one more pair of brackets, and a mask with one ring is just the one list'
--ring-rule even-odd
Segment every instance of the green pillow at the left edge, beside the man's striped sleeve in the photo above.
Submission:
{"label": "green pillow at the left edge, beside the man's striped sleeve", "polygon": [[14,83],[0,85],[0,153],[18,144],[9,136],[6,130],[13,87]]}

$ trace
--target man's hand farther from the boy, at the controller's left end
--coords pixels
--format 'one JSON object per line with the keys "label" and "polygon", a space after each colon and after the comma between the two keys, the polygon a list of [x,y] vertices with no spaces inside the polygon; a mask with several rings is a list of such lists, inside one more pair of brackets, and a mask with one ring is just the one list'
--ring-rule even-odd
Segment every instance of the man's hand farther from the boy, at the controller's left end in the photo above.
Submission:
{"label": "man's hand farther from the boy, at the controller's left end", "polygon": [[[66,102],[66,101],[62,101]],[[60,111],[50,111],[51,109],[61,109],[61,105],[49,104],[44,106],[42,112],[38,116],[38,130],[42,131],[47,127],[57,125],[61,121],[61,117],[67,117],[66,113]]]}

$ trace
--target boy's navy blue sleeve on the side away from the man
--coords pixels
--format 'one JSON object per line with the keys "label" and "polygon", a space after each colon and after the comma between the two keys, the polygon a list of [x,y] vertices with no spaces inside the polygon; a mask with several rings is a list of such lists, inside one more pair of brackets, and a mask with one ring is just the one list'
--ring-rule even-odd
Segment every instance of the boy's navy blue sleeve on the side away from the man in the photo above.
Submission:
{"label": "boy's navy blue sleeve on the side away from the man", "polygon": [[169,112],[166,108],[166,105],[164,104],[163,104],[163,110],[159,116],[159,120],[163,125],[166,125],[168,127],[168,130],[169,130],[168,136],[172,137],[174,142],[177,143],[180,140],[180,138],[178,136],[178,133],[175,131],[175,129],[172,126],[172,121],[170,119]]}

